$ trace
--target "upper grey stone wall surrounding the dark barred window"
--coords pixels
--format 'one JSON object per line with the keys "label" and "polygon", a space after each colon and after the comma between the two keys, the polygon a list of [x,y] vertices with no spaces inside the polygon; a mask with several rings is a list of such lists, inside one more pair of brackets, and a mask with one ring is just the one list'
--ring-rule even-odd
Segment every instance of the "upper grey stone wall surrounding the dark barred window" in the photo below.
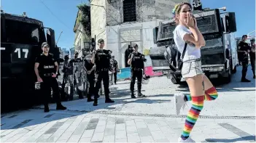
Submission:
{"label": "upper grey stone wall surrounding the dark barred window", "polygon": [[[167,20],[172,17],[171,10],[179,2],[191,0],[136,0],[136,22],[141,23],[155,19]],[[123,0],[106,2],[106,25],[120,25],[123,23]]]}

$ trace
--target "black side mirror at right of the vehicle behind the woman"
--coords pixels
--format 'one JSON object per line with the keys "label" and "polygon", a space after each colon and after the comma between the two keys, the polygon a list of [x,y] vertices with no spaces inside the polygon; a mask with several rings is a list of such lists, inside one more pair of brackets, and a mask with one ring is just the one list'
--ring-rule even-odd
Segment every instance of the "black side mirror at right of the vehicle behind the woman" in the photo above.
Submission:
{"label": "black side mirror at right of the vehicle behind the woman", "polygon": [[231,33],[236,32],[236,15],[235,12],[227,12],[225,13],[225,32]]}

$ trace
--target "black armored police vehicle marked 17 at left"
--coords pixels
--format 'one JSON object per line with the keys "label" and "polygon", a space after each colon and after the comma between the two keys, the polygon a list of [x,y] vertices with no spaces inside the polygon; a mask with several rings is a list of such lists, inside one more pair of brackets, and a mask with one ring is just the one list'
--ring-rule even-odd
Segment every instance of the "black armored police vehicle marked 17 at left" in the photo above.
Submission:
{"label": "black armored police vehicle marked 17 at left", "polygon": [[1,111],[40,102],[34,84],[34,62],[42,53],[41,44],[47,41],[50,53],[59,58],[54,30],[47,28],[46,35],[43,23],[25,12],[12,15],[1,11]]}

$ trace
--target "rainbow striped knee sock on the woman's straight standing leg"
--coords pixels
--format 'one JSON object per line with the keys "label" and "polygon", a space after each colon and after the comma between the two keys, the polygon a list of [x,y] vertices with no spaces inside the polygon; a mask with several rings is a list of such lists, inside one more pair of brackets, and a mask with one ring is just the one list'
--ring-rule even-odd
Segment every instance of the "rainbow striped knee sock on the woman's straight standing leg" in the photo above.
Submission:
{"label": "rainbow striped knee sock on the woman's straight standing leg", "polygon": [[192,107],[190,108],[190,111],[187,114],[185,126],[181,136],[183,140],[186,140],[190,136],[190,132],[192,131],[193,126],[195,125],[196,120],[198,120],[198,116],[201,110],[203,109],[204,95],[199,97],[191,97],[191,99]]}

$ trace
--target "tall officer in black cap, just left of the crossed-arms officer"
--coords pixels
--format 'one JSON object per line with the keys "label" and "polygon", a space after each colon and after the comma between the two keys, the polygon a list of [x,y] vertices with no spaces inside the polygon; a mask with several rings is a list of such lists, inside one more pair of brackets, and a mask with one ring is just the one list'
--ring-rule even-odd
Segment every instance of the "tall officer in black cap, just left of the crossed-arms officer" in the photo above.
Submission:
{"label": "tall officer in black cap, just left of the crossed-arms officer", "polygon": [[109,50],[104,48],[104,40],[101,38],[98,40],[99,49],[93,50],[92,63],[96,64],[96,91],[94,94],[93,106],[98,105],[98,90],[101,88],[101,81],[104,84],[105,103],[113,103],[114,101],[109,98],[109,70],[112,71],[110,65],[111,54]]}

